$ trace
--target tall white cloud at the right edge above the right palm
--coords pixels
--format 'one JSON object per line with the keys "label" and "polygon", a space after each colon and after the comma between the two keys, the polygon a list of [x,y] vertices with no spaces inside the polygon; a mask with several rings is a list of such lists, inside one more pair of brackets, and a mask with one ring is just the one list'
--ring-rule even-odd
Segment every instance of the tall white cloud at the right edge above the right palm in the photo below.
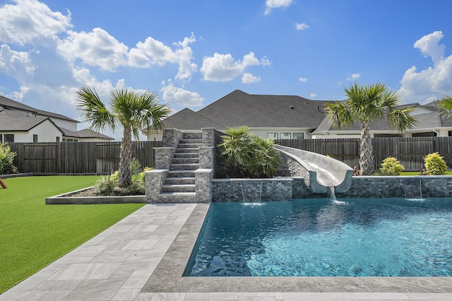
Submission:
{"label": "tall white cloud at the right edge above the right palm", "polygon": [[430,57],[433,66],[421,71],[412,66],[405,71],[398,90],[402,102],[430,102],[451,93],[452,55],[444,57],[445,46],[439,45],[442,37],[443,34],[436,31],[415,42],[414,47],[420,49],[425,57]]}

